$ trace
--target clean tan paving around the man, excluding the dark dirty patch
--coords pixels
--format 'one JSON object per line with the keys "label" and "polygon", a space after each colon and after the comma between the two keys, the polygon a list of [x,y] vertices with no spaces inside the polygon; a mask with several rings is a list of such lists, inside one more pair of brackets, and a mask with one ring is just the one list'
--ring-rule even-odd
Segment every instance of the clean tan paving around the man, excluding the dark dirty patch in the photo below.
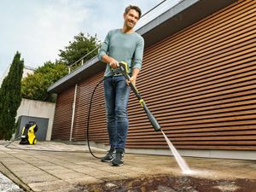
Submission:
{"label": "clean tan paving around the man, excluding the dark dirty patch", "polygon": [[[93,150],[99,156],[105,153],[96,148]],[[191,177],[213,180],[247,179],[248,182],[253,181],[253,184],[255,181],[256,191],[254,160],[184,159],[195,172]],[[137,177],[184,177],[172,156],[125,154],[124,166],[113,167],[92,157],[84,145],[55,142],[39,142],[33,146],[21,146],[15,142],[9,148],[0,145],[0,172],[26,191],[48,192],[89,191],[83,186],[90,183],[106,183],[111,186],[115,180]]]}

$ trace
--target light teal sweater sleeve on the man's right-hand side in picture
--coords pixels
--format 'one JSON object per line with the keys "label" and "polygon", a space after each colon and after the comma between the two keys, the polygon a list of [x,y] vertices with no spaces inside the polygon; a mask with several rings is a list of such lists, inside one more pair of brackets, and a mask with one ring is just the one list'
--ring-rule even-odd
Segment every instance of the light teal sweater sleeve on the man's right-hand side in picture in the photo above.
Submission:
{"label": "light teal sweater sleeve on the man's right-hand side in picture", "polygon": [[144,39],[143,37],[139,38],[139,41],[137,43],[137,47],[134,52],[133,57],[133,69],[134,68],[142,68],[143,65],[143,50],[144,50]]}

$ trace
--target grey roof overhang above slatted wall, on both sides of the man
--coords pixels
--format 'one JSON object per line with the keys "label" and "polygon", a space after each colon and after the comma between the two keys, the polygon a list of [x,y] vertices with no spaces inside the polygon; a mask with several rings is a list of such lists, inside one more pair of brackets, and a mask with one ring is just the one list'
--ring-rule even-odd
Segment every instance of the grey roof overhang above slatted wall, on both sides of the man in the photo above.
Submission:
{"label": "grey roof overhang above slatted wall, on both sides of the man", "polygon": [[[183,0],[139,28],[137,32],[143,36],[146,49],[236,1],[238,0]],[[85,62],[83,66],[49,86],[48,91],[50,93],[60,93],[73,84],[77,84],[101,72],[105,67],[104,63],[99,61],[97,57],[94,57],[90,61]]]}

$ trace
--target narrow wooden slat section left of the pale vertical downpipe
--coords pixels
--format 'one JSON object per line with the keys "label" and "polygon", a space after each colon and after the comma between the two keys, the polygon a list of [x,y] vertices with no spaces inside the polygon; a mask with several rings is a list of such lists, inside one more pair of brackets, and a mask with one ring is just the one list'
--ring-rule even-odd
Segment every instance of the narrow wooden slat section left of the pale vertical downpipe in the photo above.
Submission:
{"label": "narrow wooden slat section left of the pale vertical downpipe", "polygon": [[74,87],[58,94],[52,139],[69,140],[72,121]]}

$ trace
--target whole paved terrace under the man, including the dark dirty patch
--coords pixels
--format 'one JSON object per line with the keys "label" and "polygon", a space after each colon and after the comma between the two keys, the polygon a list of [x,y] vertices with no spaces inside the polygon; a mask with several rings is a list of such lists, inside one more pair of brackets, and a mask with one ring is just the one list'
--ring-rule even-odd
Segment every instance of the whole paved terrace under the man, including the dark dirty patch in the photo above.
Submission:
{"label": "whole paved terrace under the man, including the dark dirty patch", "polygon": [[[9,147],[0,145],[0,172],[25,191],[174,192],[184,188],[184,192],[253,192],[250,189],[256,189],[255,160],[184,157],[194,171],[189,175],[183,174],[172,156],[125,154],[124,166],[114,167],[93,158],[86,146],[57,142],[20,146],[15,142]],[[99,156],[105,153],[93,150]]]}

